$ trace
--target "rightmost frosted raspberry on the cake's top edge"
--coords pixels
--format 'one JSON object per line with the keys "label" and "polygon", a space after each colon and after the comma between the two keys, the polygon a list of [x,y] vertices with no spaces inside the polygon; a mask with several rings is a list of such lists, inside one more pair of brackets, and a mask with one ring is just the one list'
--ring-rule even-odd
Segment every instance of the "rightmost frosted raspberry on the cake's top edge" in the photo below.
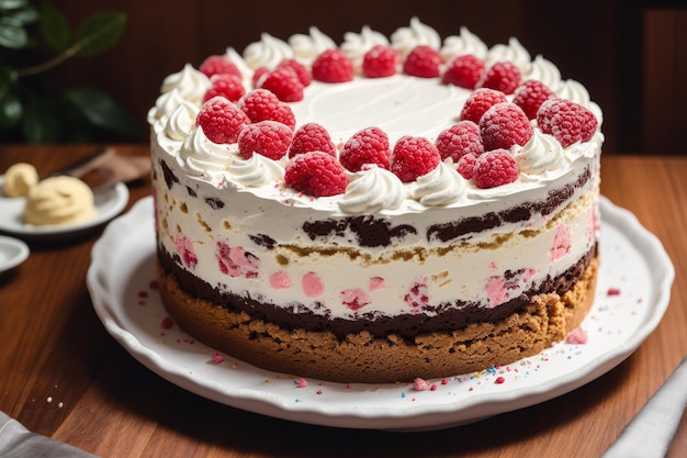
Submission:
{"label": "rightmost frosted raspberry on the cake's top edge", "polygon": [[561,146],[587,142],[596,132],[598,121],[586,108],[565,99],[551,98],[537,112],[537,124],[552,135]]}

